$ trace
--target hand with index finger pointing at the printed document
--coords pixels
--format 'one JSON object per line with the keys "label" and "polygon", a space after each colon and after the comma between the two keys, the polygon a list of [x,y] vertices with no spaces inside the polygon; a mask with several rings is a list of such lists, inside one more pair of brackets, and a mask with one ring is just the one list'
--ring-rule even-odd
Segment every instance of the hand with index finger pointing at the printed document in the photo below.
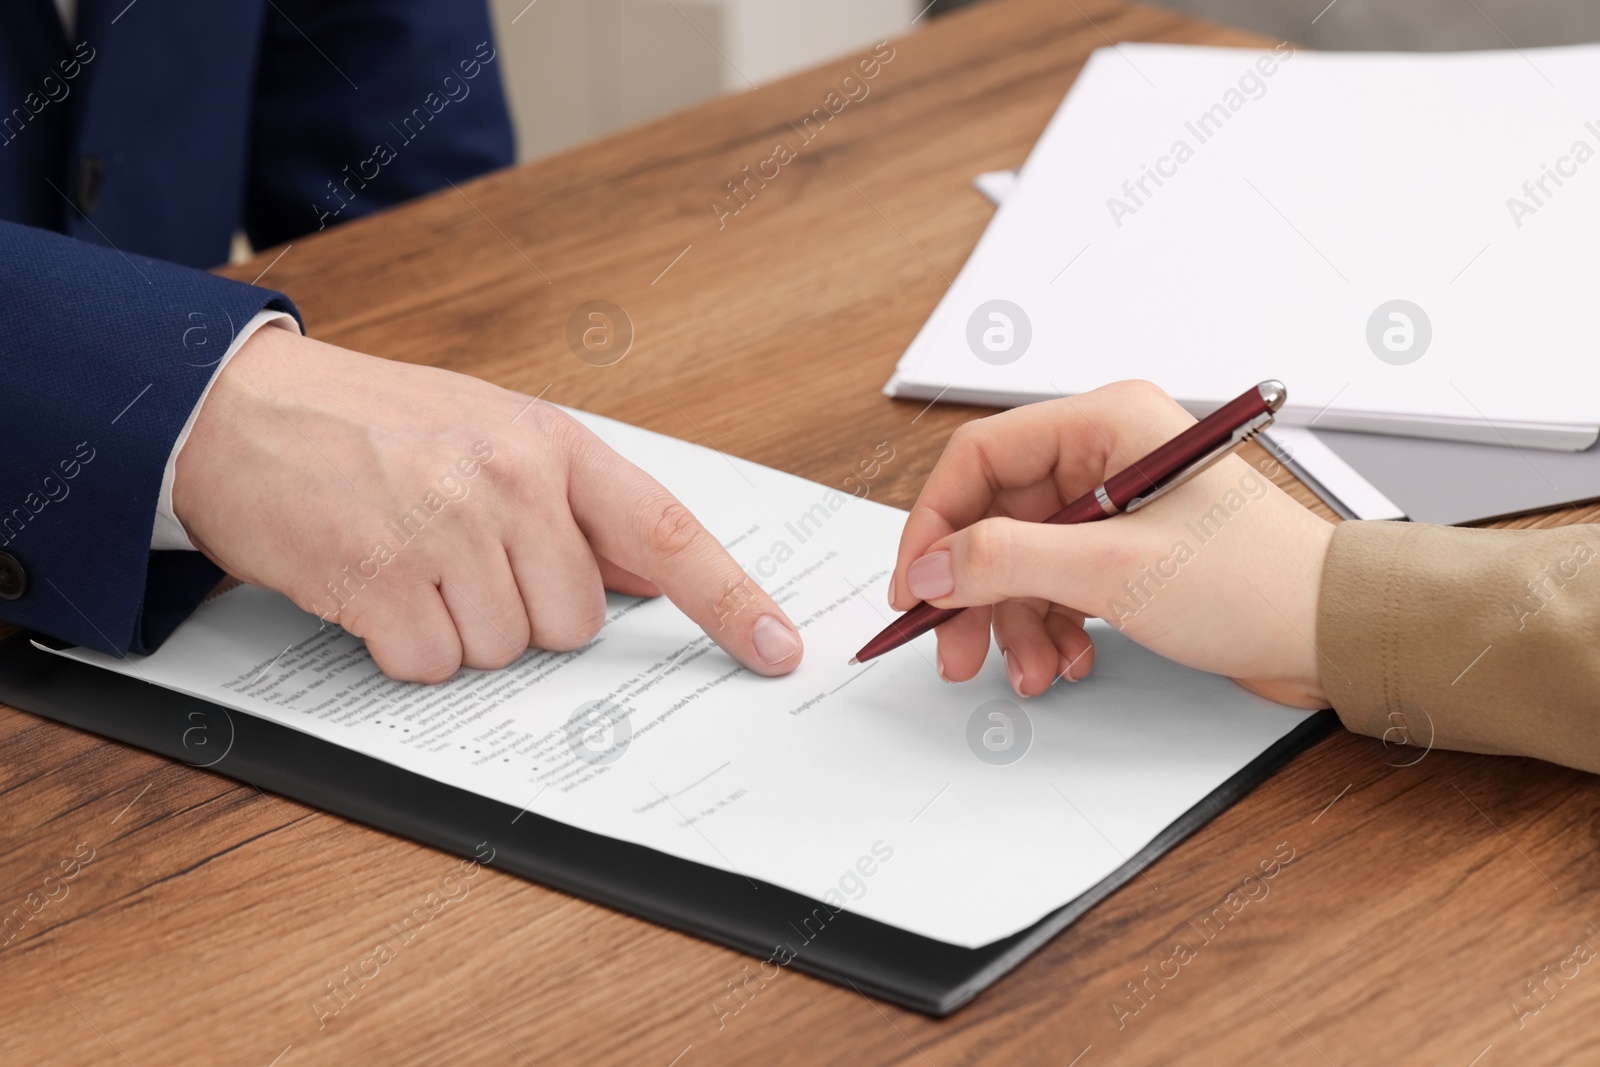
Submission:
{"label": "hand with index finger pointing at the printed document", "polygon": [[782,609],[574,419],[286,330],[259,330],[222,368],[173,506],[218,566],[365,638],[395,678],[579,648],[605,621],[605,589],[666,593],[757,673],[800,662]]}

